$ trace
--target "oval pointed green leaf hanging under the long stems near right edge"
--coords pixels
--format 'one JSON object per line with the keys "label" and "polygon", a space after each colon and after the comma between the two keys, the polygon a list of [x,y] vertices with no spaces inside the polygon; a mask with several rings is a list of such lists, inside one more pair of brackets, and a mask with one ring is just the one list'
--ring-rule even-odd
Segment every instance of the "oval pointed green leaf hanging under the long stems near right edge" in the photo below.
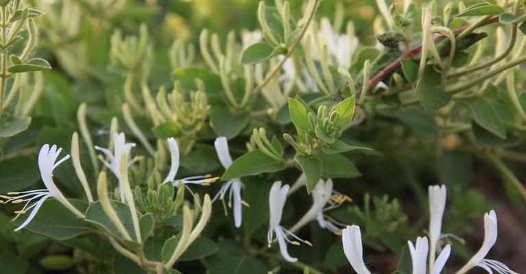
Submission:
{"label": "oval pointed green leaf hanging under the long stems near right edge", "polygon": [[473,118],[483,128],[500,138],[506,138],[506,129],[501,123],[497,112],[492,105],[481,97],[475,97],[463,101],[473,112]]}

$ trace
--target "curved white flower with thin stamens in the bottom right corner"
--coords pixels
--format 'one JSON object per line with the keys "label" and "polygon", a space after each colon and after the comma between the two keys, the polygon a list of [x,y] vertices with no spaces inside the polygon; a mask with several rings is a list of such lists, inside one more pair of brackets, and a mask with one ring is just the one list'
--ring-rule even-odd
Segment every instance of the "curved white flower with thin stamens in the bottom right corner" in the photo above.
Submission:
{"label": "curved white flower with thin stamens in the bottom right corner", "polygon": [[497,271],[497,273],[512,273],[517,274],[515,271],[512,271],[510,268],[505,266],[502,262],[496,260],[486,259],[486,255],[490,252],[490,249],[497,242],[497,214],[493,210],[484,214],[484,241],[479,251],[473,255],[473,257],[464,265],[462,269],[457,271],[457,274],[464,274],[470,269],[473,269],[475,266],[479,266],[488,273],[493,273],[492,270]]}

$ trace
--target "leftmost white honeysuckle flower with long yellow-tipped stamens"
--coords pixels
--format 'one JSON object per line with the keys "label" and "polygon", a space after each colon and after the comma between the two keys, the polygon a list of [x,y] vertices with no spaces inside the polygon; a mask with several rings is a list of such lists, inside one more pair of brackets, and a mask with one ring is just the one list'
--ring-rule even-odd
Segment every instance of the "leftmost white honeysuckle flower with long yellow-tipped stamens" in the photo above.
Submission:
{"label": "leftmost white honeysuckle flower with long yellow-tipped stamens", "polygon": [[[61,148],[57,148],[56,145],[53,145],[51,148],[49,145],[43,145],[38,153],[38,169],[40,169],[40,176],[46,188],[38,190],[27,190],[21,192],[9,192],[8,195],[0,195],[1,198],[7,199],[6,201],[1,201],[1,203],[24,203],[25,205],[21,210],[17,210],[16,216],[14,219],[18,218],[21,214],[27,212],[27,210],[32,210],[32,212],[27,216],[27,219],[19,226],[14,229],[14,231],[19,231],[28,225],[40,210],[40,207],[48,198],[55,198],[57,201],[62,203],[67,209],[69,209],[73,214],[77,215],[80,218],[84,218],[77,208],[75,208],[67,199],[62,195],[62,192],[57,188],[53,182],[53,169],[55,169],[60,163],[69,159],[69,155],[65,155],[62,159],[58,160],[58,155],[62,151]],[[13,195],[13,196],[12,196]],[[36,202],[34,202],[36,201]],[[34,202],[34,203],[33,203]]]}

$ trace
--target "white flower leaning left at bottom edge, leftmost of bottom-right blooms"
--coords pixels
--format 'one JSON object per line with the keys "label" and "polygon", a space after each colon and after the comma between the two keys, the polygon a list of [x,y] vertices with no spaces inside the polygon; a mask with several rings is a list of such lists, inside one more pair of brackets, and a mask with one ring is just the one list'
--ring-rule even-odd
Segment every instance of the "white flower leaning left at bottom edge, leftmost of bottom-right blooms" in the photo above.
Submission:
{"label": "white flower leaning left at bottom edge, leftmost of bottom-right blooms", "polygon": [[358,274],[371,274],[363,262],[360,227],[357,225],[348,225],[342,233],[342,241],[344,242],[345,256],[350,262],[352,269]]}

